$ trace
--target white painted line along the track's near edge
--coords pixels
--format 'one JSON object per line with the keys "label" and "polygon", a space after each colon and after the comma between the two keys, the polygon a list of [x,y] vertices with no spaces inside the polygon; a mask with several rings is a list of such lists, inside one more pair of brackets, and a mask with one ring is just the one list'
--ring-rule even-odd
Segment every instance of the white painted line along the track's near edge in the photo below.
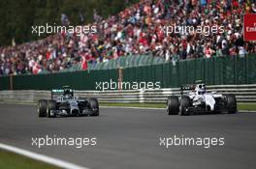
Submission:
{"label": "white painted line along the track's near edge", "polygon": [[53,157],[50,157],[50,156],[47,156],[47,155],[40,155],[40,154],[37,154],[37,153],[33,153],[33,152],[30,152],[30,151],[19,149],[19,148],[16,148],[14,146],[6,145],[6,144],[3,144],[3,143],[0,143],[0,149],[6,150],[6,151],[9,151],[9,152],[13,152],[13,153],[16,153],[18,155],[24,155],[24,156],[27,156],[27,157],[30,157],[30,158],[33,158],[33,159],[36,159],[36,160],[39,160],[39,161],[43,161],[43,162],[46,162],[48,164],[55,165],[55,166],[61,167],[61,168],[89,169],[89,168],[82,167],[82,166],[79,166],[79,165],[76,165],[76,164],[73,164],[73,163],[70,163],[70,162],[66,162],[66,161],[61,160],[61,159],[53,158]]}

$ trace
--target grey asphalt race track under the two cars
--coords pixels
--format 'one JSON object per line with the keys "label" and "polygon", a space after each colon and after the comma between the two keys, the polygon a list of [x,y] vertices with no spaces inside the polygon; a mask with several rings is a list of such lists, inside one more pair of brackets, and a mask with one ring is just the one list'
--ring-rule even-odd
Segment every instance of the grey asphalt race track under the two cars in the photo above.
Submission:
{"label": "grey asphalt race track under the two cars", "polygon": [[[167,116],[165,110],[101,108],[99,117],[38,118],[34,105],[0,104],[0,142],[93,169],[253,169],[256,113]],[[97,145],[32,146],[32,137],[96,137]],[[224,137],[224,146],[159,145],[160,137]]]}

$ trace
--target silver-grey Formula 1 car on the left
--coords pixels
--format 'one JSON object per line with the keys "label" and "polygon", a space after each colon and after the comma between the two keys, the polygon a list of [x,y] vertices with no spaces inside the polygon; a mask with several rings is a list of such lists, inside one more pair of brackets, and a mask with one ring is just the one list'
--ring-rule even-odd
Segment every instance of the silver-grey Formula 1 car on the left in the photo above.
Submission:
{"label": "silver-grey Formula 1 car on the left", "polygon": [[[55,98],[55,96],[58,96]],[[38,102],[39,117],[56,116],[99,116],[97,99],[79,99],[68,86],[51,91],[51,99],[40,99]]]}

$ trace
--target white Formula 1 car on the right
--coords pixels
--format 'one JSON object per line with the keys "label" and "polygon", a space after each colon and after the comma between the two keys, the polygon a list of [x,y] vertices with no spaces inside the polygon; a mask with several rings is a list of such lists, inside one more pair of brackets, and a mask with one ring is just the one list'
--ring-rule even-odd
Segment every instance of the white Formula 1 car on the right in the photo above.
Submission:
{"label": "white Formula 1 car on the right", "polygon": [[[185,90],[190,90],[184,94]],[[234,95],[222,95],[216,92],[207,93],[203,83],[180,88],[181,97],[167,99],[169,115],[189,115],[193,113],[237,112],[237,99]]]}

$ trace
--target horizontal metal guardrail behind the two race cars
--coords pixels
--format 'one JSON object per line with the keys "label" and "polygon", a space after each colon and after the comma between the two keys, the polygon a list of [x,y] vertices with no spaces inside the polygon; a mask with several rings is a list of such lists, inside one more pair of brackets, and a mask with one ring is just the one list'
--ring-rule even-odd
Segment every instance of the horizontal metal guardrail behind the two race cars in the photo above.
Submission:
{"label": "horizontal metal guardrail behind the two race cars", "polygon": [[[256,103],[256,84],[252,85],[215,85],[208,86],[208,92],[235,94],[239,102]],[[75,91],[79,98],[97,98],[100,102],[165,102],[169,96],[179,96],[179,88],[161,90],[125,90],[125,91]],[[0,91],[1,102],[37,102],[50,99],[49,91],[21,90]]]}

